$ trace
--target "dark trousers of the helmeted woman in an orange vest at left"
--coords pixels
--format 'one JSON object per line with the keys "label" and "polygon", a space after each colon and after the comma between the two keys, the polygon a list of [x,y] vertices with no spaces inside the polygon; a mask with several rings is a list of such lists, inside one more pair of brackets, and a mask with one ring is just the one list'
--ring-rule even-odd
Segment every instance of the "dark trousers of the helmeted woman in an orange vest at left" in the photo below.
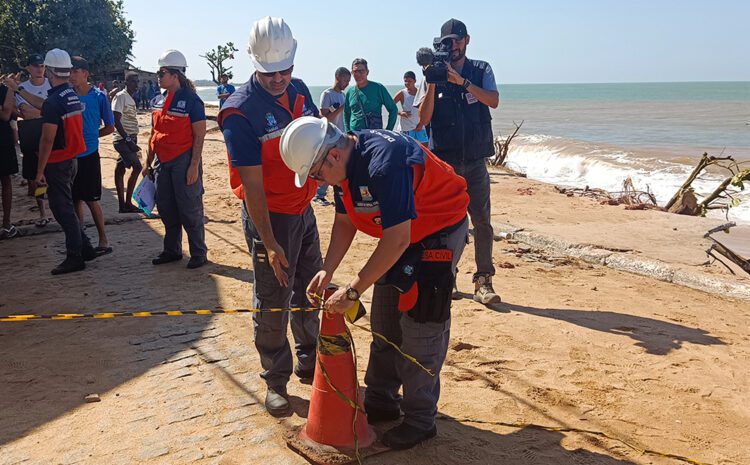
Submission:
{"label": "dark trousers of the helmeted woman in an orange vest at left", "polygon": [[190,256],[205,257],[208,248],[203,227],[203,165],[198,168],[198,180],[188,186],[187,170],[192,158],[192,151],[187,151],[156,167],[156,208],[164,223],[164,252],[182,255],[184,228]]}

